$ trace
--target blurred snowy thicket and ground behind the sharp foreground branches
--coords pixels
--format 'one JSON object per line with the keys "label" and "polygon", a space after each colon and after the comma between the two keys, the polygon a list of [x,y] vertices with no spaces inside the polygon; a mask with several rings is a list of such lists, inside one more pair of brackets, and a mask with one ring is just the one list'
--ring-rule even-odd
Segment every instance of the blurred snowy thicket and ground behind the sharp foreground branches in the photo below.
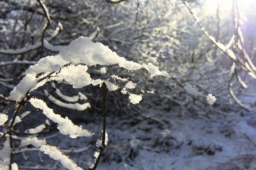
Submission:
{"label": "blurred snowy thicket and ground behind the sharp foreground branches", "polygon": [[[0,168],[88,169],[98,158],[94,152],[102,147],[97,140],[106,120],[108,145],[97,169],[256,169],[255,2],[111,2],[0,2]],[[30,65],[80,36],[127,61],[152,63],[170,77],[147,67],[88,65],[93,79],[136,83],[127,94],[108,92],[106,116],[102,84],[73,88],[43,71],[36,78],[51,82],[22,100],[9,97]],[[189,94],[186,83],[204,97]],[[133,104],[129,93],[142,91]],[[208,94],[217,98],[212,105]],[[60,133],[60,125],[33,107],[34,97],[94,135],[74,139]],[[33,137],[39,146],[26,142]],[[59,154],[47,154],[42,145]]]}

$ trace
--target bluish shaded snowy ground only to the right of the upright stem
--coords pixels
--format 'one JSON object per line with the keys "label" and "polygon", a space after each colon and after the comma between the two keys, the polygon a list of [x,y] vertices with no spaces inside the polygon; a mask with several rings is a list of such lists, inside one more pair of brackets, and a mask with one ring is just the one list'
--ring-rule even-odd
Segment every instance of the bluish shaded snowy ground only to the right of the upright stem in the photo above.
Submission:
{"label": "bluish shaded snowy ground only to the right of the upright stem", "polygon": [[109,127],[105,152],[108,159],[115,148],[121,160],[109,159],[98,169],[256,169],[256,121],[247,116],[170,118],[166,127],[147,120],[123,127],[121,121],[117,129]]}

